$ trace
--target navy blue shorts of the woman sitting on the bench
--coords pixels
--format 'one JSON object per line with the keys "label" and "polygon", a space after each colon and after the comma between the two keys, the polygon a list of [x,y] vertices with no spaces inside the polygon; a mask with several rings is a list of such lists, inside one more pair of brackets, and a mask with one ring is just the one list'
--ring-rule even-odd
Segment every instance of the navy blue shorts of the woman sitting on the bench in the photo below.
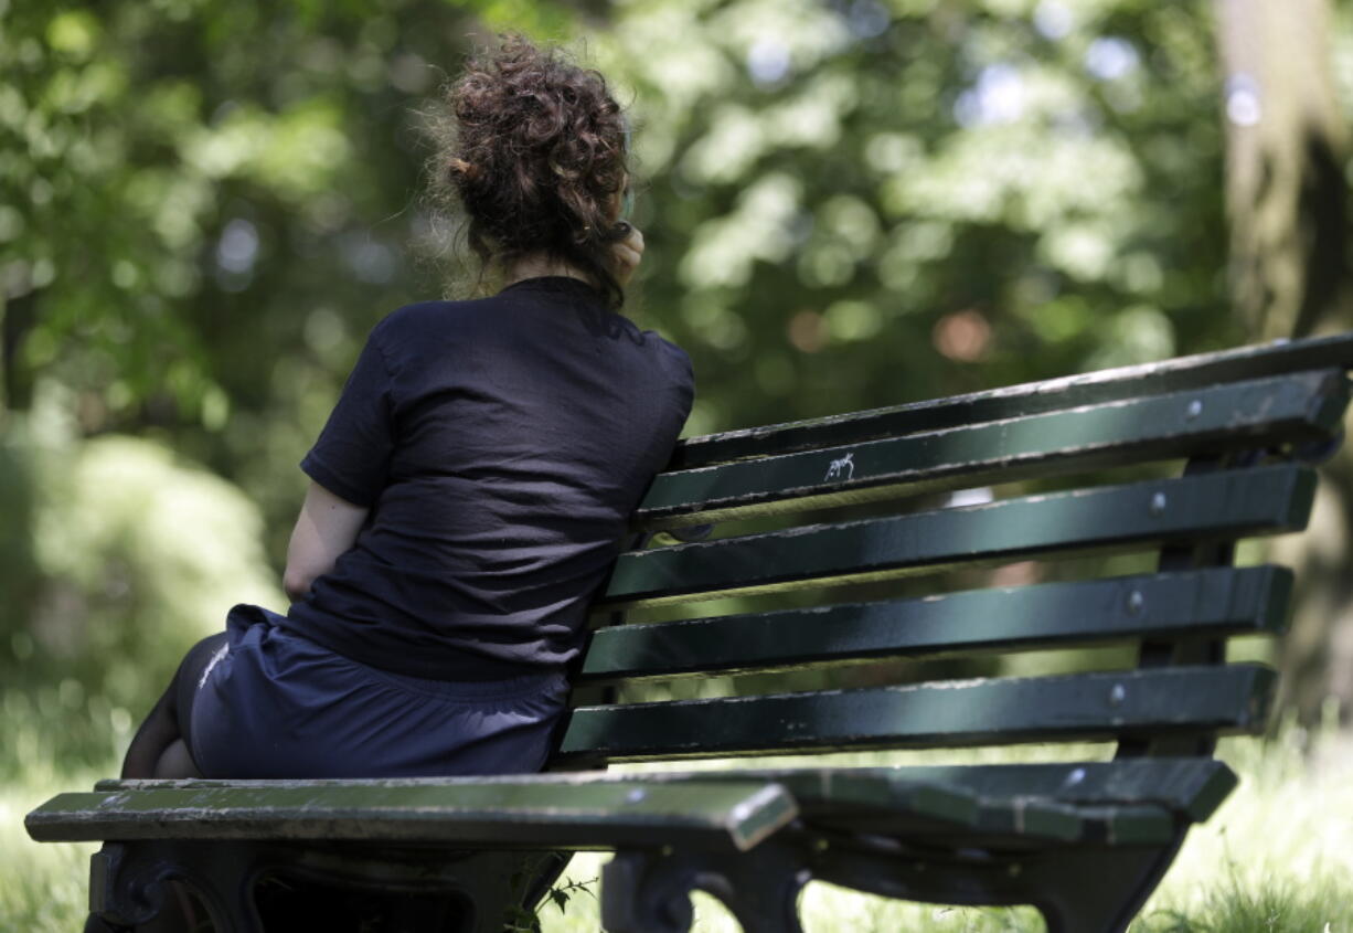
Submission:
{"label": "navy blue shorts of the woman sitting on the bench", "polygon": [[446,682],[359,664],[237,605],[188,734],[204,777],[438,777],[540,771],[563,673]]}

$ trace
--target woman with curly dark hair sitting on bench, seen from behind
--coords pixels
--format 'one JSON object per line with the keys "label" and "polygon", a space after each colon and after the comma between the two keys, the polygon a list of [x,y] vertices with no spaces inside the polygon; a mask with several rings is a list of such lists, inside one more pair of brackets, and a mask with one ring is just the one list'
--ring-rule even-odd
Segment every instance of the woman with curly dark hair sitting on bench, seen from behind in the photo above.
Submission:
{"label": "woman with curly dark hair sitting on bench, seen from behind", "polygon": [[[686,353],[618,314],[624,115],[510,37],[449,89],[434,177],[501,290],[371,332],[302,462],[283,615],[230,611],[123,777],[538,771],[626,520],[691,404]],[[487,278],[486,278],[487,276]]]}

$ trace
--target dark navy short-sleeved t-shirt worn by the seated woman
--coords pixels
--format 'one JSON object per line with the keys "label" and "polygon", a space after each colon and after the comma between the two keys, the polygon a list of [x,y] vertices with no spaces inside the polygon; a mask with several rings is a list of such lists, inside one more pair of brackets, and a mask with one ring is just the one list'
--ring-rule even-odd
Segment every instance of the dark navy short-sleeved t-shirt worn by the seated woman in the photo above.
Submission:
{"label": "dark navy short-sleeved t-shirt worn by the seated woman", "polygon": [[686,353],[575,279],[399,309],[300,464],[371,515],[287,627],[417,677],[567,664],[691,395]]}

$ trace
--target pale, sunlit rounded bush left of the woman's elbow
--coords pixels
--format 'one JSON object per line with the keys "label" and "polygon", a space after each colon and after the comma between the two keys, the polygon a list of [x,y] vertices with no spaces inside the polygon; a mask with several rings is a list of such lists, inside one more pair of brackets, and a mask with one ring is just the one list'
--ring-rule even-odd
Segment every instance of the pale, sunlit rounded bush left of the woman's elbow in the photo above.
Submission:
{"label": "pale, sunlit rounded bush left of the woman's elbow", "polygon": [[239,601],[277,605],[257,509],[153,441],[77,441],[39,402],[0,440],[0,773],[103,761]]}

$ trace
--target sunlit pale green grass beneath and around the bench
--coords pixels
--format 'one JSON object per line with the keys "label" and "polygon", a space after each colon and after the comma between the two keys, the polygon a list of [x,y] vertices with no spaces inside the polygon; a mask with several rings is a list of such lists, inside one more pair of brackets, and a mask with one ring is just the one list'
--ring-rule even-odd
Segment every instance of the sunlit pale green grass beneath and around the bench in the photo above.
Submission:
{"label": "sunlit pale green grass beneath and around the bench", "polygon": [[[1323,734],[1311,753],[1304,737],[1284,729],[1275,741],[1229,739],[1220,757],[1241,787],[1204,826],[1196,827],[1132,933],[1353,933],[1353,739]],[[14,747],[11,745],[11,747]],[[1024,757],[1030,752],[1005,752]],[[955,756],[947,756],[954,758]],[[992,760],[990,753],[973,758]],[[878,764],[882,756],[844,756]],[[888,761],[897,760],[889,756]],[[908,756],[908,761],[917,760]],[[923,756],[920,760],[936,760]],[[769,762],[762,762],[769,764]],[[23,814],[58,789],[89,787],[101,775],[64,773],[41,761],[0,789],[0,930],[66,933],[85,910],[92,845],[37,845]],[[106,773],[111,773],[111,764]],[[605,854],[582,854],[567,876],[578,883],[564,909],[541,910],[545,933],[594,932],[590,896]],[[695,930],[737,930],[727,911],[697,895]],[[1027,907],[955,909],[898,903],[812,883],[801,909],[809,933],[1009,933],[1043,929]]]}

